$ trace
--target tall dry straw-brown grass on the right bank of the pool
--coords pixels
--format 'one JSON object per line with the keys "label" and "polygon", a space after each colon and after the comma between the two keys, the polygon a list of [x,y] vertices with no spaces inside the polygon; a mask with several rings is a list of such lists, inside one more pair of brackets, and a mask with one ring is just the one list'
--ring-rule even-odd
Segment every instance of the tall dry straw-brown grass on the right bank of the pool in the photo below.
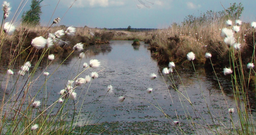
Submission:
{"label": "tall dry straw-brown grass on the right bank of the pool", "polygon": [[[225,22],[226,20],[210,24],[196,23],[194,26],[172,25],[167,29],[159,29],[153,33],[151,47],[154,48],[155,44],[158,45],[158,49],[156,48],[155,50],[158,50],[157,60],[159,63],[167,63],[168,61],[185,62],[186,54],[190,51],[196,54],[196,63],[198,64],[205,63],[204,55],[206,52],[212,53],[213,57],[216,58],[214,61],[225,60],[227,59],[229,48],[224,43],[224,37],[220,36],[222,28],[226,27]],[[241,51],[246,49],[246,36],[252,34],[250,27],[249,23],[243,23],[240,26],[240,32],[235,33],[236,42],[242,45]],[[232,29],[233,25],[227,28]],[[179,40],[179,42],[175,40]],[[163,53],[163,50],[165,53]],[[156,51],[152,51],[152,53],[156,53]],[[161,60],[159,58],[166,59],[166,56],[159,55],[168,55],[169,59]]]}

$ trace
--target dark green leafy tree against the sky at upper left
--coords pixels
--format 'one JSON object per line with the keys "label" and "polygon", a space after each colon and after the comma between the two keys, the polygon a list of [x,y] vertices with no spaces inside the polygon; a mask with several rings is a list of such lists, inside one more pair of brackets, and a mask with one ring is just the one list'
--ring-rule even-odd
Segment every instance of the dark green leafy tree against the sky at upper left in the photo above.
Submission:
{"label": "dark green leafy tree against the sky at upper left", "polygon": [[[22,23],[38,25],[40,23],[41,6],[38,4],[39,0],[32,0],[30,9],[23,12],[21,18]],[[38,5],[37,5],[38,4]],[[37,5],[37,6],[36,6]]]}

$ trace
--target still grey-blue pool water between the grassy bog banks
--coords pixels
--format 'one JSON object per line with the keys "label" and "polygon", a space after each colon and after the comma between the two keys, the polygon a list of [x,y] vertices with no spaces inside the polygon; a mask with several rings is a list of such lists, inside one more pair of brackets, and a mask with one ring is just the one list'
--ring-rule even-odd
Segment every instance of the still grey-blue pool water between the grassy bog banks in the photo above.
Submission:
{"label": "still grey-blue pool water between the grassy bog banks", "polygon": [[[50,105],[58,100],[60,90],[65,88],[65,84],[67,84],[68,80],[74,79],[74,77],[83,70],[84,62],[89,63],[91,59],[98,59],[101,62],[99,68],[89,68],[79,76],[85,77],[86,75],[90,75],[92,71],[100,71],[98,73],[99,77],[92,81],[88,92],[89,84],[86,84],[84,88],[82,86],[76,88],[77,95],[78,97],[80,96],[80,98],[75,101],[78,103],[76,113],[79,112],[80,106],[82,106],[81,118],[78,124],[85,123],[89,114],[92,115],[94,112],[93,119],[89,123],[94,123],[99,120],[98,123],[114,121],[124,123],[145,121],[150,123],[152,121],[158,121],[168,124],[168,120],[161,111],[148,102],[138,98],[143,98],[157,107],[159,107],[157,105],[158,103],[172,120],[178,120],[184,128],[189,127],[186,115],[190,115],[196,123],[202,124],[203,120],[201,117],[203,117],[207,123],[212,124],[205,102],[207,102],[210,112],[216,117],[214,118],[215,120],[218,118],[223,121],[225,121],[225,119],[229,121],[228,107],[235,108],[235,102],[231,96],[231,82],[227,77],[219,78],[219,80],[222,87],[226,90],[225,98],[228,107],[214,74],[208,73],[203,68],[197,68],[198,83],[193,68],[176,66],[176,70],[184,86],[177,72],[174,72],[173,78],[175,86],[183,95],[189,96],[190,101],[196,108],[195,110],[191,107],[189,102],[169,84],[166,85],[159,79],[150,79],[150,74],[155,73],[158,78],[162,80],[165,79],[171,84],[168,77],[164,75],[164,78],[162,78],[159,71],[159,68],[162,71],[162,69],[168,65],[158,66],[157,62],[151,58],[147,44],[142,43],[140,46],[132,46],[131,44],[132,41],[111,41],[110,44],[87,47],[86,58],[79,59],[79,53],[69,58],[47,82],[48,104]],[[50,72],[50,74],[53,73],[60,62],[61,59],[56,58],[50,64],[47,71]],[[44,69],[45,66],[42,66],[42,68],[36,72],[35,77],[39,76]],[[33,85],[34,92],[31,92],[31,95],[35,94],[36,90],[39,89],[44,82],[45,77],[41,75],[39,80]],[[201,85],[201,89],[199,84]],[[108,85],[113,86],[114,94],[106,94]],[[152,94],[146,92],[146,89],[149,87],[153,88],[152,94],[156,100],[154,100]],[[106,96],[104,96],[105,94]],[[86,95],[86,97],[82,105],[84,95]],[[43,96],[42,90],[37,95],[36,100],[41,100]],[[119,96],[134,98],[126,98],[124,102],[119,103],[117,101]],[[56,110],[58,107],[57,105]],[[54,109],[52,113],[54,114],[56,110]],[[72,111],[70,111],[70,113],[72,114]],[[177,119],[177,115],[179,119]],[[235,116],[236,111],[234,117]],[[195,120],[196,118],[198,118],[198,120]],[[147,127],[142,126],[141,128]],[[166,124],[159,128],[169,128],[172,130],[172,127]],[[187,130],[190,129],[188,128]],[[157,131],[155,133],[157,133]],[[171,132],[168,134],[171,134]]]}

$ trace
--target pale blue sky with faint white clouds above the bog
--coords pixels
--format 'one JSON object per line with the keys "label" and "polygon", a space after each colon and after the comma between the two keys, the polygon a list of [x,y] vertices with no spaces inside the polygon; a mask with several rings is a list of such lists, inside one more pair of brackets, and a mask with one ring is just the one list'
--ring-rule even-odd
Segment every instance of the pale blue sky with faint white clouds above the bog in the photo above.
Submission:
{"label": "pale blue sky with faint white clouds above the bog", "polygon": [[[21,14],[30,8],[31,0],[7,0],[11,4],[10,21],[21,2],[15,21],[20,23]],[[144,4],[144,3],[145,4]],[[54,18],[62,18],[58,25],[97,28],[167,28],[180,24],[188,15],[198,16],[206,11],[222,11],[230,3],[242,3],[243,22],[256,21],[254,0],[44,0],[40,3],[40,24],[47,26]],[[26,4],[24,4],[26,3]],[[138,9],[140,8],[140,9]],[[55,10],[56,9],[56,10]],[[51,18],[52,17],[52,18]],[[8,21],[7,20],[7,21]]]}

